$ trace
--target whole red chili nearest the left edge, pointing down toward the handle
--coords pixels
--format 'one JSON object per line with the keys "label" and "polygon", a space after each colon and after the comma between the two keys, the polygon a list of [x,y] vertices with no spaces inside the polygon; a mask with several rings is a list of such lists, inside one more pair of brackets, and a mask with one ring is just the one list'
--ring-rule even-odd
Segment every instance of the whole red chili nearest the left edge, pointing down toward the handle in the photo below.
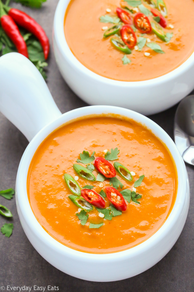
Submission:
{"label": "whole red chili nearest the left edge, pointing down toward the handle", "polygon": [[1,2],[0,2],[0,22],[3,30],[15,44],[18,53],[28,58],[28,50],[26,43],[13,19],[9,15],[6,15]]}

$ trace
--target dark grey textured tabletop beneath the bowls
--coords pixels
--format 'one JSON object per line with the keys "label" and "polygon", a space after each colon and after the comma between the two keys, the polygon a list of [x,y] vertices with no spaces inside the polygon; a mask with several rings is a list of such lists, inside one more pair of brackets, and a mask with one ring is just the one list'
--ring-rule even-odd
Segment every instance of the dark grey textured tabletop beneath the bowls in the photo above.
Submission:
{"label": "dark grey textured tabletop beneath the bowls", "polygon": [[[46,30],[51,41],[52,23],[57,1],[48,0],[41,10],[22,8],[34,17]],[[20,8],[19,4],[14,5]],[[1,82],[1,81],[0,81]],[[11,83],[11,81],[10,81]],[[51,49],[47,84],[62,113],[86,104],[65,84],[60,76]],[[176,106],[150,118],[173,138],[173,121]],[[22,133],[0,114],[0,189],[15,188],[17,168],[28,141]],[[154,267],[146,272],[122,281],[97,283],[76,279],[47,263],[28,241],[17,215],[15,199],[0,198],[13,213],[13,220],[0,217],[0,226],[13,222],[10,238],[0,234],[0,285],[2,286],[58,286],[59,291],[194,291],[194,169],[187,165],[191,187],[191,203],[185,227],[175,246]],[[107,267],[108,269],[108,267]],[[116,269],[116,267],[115,267]],[[5,289],[7,291],[7,289]],[[31,289],[33,291],[33,288]],[[47,291],[47,289],[45,290]]]}

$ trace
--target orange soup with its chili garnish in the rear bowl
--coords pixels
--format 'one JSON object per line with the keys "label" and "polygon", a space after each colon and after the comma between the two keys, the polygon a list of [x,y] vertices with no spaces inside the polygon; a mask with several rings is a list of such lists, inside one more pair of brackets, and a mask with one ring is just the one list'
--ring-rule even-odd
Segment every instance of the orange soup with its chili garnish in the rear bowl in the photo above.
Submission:
{"label": "orange soup with its chili garnish in the rear bowl", "polygon": [[65,38],[79,62],[103,77],[153,79],[193,53],[193,11],[193,0],[72,0]]}

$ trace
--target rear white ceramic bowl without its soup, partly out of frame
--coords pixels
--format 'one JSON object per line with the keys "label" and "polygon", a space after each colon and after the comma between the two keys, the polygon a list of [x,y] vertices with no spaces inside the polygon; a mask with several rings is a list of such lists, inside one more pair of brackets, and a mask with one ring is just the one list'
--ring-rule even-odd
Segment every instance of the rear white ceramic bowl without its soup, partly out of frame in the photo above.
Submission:
{"label": "rear white ceramic bowl without its soup, partly out of frame", "polygon": [[76,59],[65,39],[63,24],[69,2],[60,0],[56,8],[54,54],[63,78],[85,102],[126,107],[149,115],[168,109],[193,90],[194,53],[172,72],[146,81],[116,81],[90,71]]}

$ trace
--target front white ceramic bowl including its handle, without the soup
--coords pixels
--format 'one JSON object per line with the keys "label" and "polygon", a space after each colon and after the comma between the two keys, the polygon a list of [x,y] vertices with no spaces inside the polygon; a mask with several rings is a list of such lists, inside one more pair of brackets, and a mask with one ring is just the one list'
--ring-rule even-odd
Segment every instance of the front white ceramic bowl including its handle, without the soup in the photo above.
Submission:
{"label": "front white ceramic bowl including its handle, without the soup", "polygon": [[[161,260],[175,244],[184,227],[190,196],[185,164],[168,134],[147,117],[121,107],[90,106],[61,114],[38,70],[18,53],[0,58],[0,80],[1,112],[29,140],[34,136],[19,164],[16,203],[24,232],[40,255],[59,270],[90,281],[116,281],[133,277]],[[149,239],[125,251],[93,254],[76,251],[59,243],[42,228],[30,207],[26,181],[35,151],[51,132],[72,119],[102,113],[120,114],[134,119],[147,126],[165,143],[177,167],[178,192],[167,220]]]}

